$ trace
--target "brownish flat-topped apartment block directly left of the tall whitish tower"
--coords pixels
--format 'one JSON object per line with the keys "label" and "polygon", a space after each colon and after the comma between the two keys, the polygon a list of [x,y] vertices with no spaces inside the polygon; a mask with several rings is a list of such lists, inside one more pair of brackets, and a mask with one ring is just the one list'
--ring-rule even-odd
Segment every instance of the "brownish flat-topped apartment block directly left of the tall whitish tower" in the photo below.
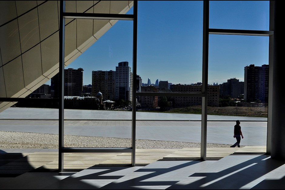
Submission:
{"label": "brownish flat-topped apartment block directly left of the tall whitish tower", "polygon": [[92,71],[92,96],[104,94],[104,100],[115,100],[116,71]]}

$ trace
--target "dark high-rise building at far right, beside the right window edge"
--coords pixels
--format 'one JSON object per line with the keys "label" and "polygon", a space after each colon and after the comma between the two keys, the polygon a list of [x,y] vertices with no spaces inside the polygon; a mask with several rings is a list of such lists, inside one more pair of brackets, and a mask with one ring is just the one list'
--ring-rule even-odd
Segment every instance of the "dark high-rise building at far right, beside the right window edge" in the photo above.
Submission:
{"label": "dark high-rise building at far right, beside the right window edge", "polygon": [[244,67],[244,100],[268,103],[269,65]]}

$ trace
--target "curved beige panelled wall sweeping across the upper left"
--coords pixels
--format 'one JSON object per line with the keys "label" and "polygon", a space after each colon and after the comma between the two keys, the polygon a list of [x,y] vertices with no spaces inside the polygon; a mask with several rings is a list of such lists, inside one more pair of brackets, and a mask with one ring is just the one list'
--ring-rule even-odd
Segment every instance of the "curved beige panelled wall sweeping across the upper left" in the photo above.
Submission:
{"label": "curved beige panelled wall sweeping across the upper left", "polygon": [[[65,1],[66,12],[125,14],[133,1]],[[59,72],[59,1],[0,1],[0,97],[26,97]],[[65,66],[116,20],[65,19]],[[1,102],[0,112],[15,102]]]}

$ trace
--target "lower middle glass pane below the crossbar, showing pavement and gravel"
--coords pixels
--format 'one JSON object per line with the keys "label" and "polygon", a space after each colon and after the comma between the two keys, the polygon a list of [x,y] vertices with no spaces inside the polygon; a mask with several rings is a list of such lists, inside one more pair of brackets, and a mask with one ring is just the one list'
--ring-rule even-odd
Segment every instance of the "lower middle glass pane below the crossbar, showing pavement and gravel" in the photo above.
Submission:
{"label": "lower middle glass pane below the crossbar, showing pavement and gravel", "polygon": [[[137,100],[136,152],[164,149],[157,159],[200,158],[201,97],[139,96]],[[189,106],[191,101],[197,105]]]}

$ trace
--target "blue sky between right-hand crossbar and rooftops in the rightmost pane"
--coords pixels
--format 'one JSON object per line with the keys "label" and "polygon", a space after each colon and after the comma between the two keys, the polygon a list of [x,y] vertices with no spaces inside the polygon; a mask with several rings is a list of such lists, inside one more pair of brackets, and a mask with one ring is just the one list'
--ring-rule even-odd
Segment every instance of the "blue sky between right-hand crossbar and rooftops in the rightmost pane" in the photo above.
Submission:
{"label": "blue sky between right-hand crossbar and rooftops in the rightmost pane", "polygon": [[266,36],[209,35],[208,84],[228,79],[244,81],[244,67],[268,64],[269,38]]}

